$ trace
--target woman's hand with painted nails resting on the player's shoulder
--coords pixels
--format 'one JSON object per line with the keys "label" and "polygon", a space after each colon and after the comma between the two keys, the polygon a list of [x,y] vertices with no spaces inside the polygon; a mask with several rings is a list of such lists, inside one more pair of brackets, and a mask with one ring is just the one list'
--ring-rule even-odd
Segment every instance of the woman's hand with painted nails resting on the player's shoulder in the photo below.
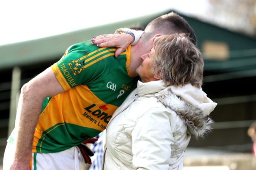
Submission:
{"label": "woman's hand with painted nails resting on the player's shoulder", "polygon": [[93,37],[92,44],[98,47],[116,47],[115,57],[117,58],[134,41],[130,34],[107,34]]}

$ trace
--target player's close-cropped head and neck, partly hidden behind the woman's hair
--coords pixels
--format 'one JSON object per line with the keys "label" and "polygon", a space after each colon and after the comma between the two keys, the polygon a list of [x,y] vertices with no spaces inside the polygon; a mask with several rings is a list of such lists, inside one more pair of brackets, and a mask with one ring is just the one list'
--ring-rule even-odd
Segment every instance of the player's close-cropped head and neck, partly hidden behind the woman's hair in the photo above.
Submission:
{"label": "player's close-cropped head and neck, partly hidden behind the woman's hair", "polygon": [[150,52],[153,47],[154,38],[176,33],[186,33],[189,35],[191,42],[196,45],[197,40],[193,29],[180,15],[171,12],[152,20],[145,28],[139,42],[135,46],[132,46],[133,62],[129,66],[132,73],[136,75],[135,69],[139,67],[142,62],[141,55]]}

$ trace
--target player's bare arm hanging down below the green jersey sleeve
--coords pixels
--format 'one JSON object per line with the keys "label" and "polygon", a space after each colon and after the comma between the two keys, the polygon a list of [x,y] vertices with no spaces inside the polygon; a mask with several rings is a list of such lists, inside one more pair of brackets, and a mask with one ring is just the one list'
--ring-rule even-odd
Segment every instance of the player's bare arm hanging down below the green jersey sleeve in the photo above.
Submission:
{"label": "player's bare arm hanging down below the green jersey sleeve", "polygon": [[15,121],[15,157],[11,170],[29,170],[35,127],[45,97],[63,92],[51,68],[26,83],[21,90]]}

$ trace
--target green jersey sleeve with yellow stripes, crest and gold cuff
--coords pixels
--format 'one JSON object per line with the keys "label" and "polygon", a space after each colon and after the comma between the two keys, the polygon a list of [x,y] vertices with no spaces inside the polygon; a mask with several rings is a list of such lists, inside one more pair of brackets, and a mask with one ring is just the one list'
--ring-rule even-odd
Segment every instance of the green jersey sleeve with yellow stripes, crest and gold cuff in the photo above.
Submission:
{"label": "green jersey sleeve with yellow stripes, crest and gold cuff", "polygon": [[106,69],[106,63],[101,60],[114,53],[115,48],[98,48],[90,41],[74,44],[58,62],[52,65],[52,71],[66,91],[79,84],[87,84],[99,79]]}

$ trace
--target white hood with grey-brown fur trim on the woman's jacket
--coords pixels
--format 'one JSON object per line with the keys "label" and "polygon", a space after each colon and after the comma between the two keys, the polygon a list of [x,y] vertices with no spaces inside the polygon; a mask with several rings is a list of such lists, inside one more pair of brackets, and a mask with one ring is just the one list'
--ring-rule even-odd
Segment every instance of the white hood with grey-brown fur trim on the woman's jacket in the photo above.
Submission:
{"label": "white hood with grey-brown fur trim on the woman's jacket", "polygon": [[182,87],[169,86],[155,94],[165,106],[173,110],[185,122],[190,134],[196,138],[210,132],[213,121],[209,114],[217,106],[202,91],[191,84]]}

